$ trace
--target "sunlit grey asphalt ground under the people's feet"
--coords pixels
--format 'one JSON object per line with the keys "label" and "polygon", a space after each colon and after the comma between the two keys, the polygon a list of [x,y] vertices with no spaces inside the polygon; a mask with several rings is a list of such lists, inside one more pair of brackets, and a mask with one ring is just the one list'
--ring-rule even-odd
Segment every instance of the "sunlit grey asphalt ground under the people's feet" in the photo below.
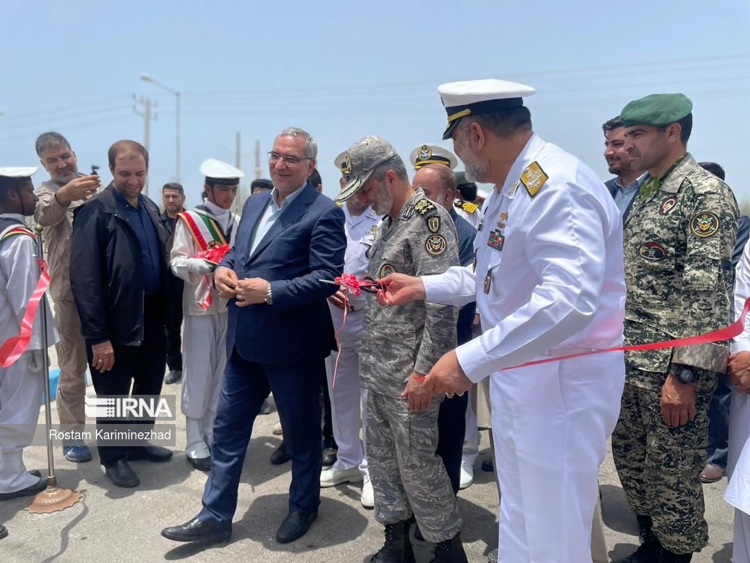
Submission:
{"label": "sunlit grey asphalt ground under the people's feet", "polygon": [[[165,386],[163,393],[178,393]],[[92,393],[92,388],[89,387]],[[54,411],[54,408],[52,409]],[[98,460],[75,465],[55,450],[59,486],[84,493],[83,501],[57,513],[37,515],[24,510],[27,499],[0,503],[0,522],[10,534],[0,540],[1,563],[40,561],[368,561],[383,541],[383,528],[371,510],[359,503],[360,486],[323,489],[320,516],[305,537],[279,545],[275,532],[287,513],[290,464],[276,466],[269,456],[280,440],[272,435],[278,420],[274,412],[257,419],[248,448],[239,489],[239,507],[233,537],[228,543],[199,547],[172,543],[160,536],[167,525],[185,522],[200,509],[205,474],[193,470],[184,458],[184,419],[178,416],[177,447],[171,461],[162,464],[133,462],[141,478],[136,489],[119,489],[104,477]],[[40,411],[43,423],[43,411]],[[459,493],[465,519],[462,537],[469,561],[486,561],[496,546],[498,499],[494,475],[481,471],[489,455],[487,433],[475,468],[475,483]],[[46,467],[44,447],[29,447],[28,468]],[[602,509],[610,558],[631,552],[637,527],[619,486],[611,456],[601,467]],[[726,480],[704,487],[710,544],[693,561],[730,561],[733,511],[721,495]],[[501,547],[502,549],[502,547]],[[428,561],[431,546],[422,544],[419,561]]]}

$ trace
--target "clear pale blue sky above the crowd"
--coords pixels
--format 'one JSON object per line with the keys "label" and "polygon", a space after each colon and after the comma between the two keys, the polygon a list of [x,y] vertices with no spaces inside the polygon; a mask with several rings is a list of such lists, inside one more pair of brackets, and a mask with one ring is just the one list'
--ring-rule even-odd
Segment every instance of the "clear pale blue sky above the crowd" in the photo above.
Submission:
{"label": "clear pale blue sky above the crowd", "polygon": [[[205,158],[255,177],[287,125],[320,147],[325,193],[338,191],[333,158],[369,134],[406,160],[440,142],[437,86],[501,78],[527,83],[535,131],[610,175],[601,123],[628,101],[683,92],[694,103],[688,149],[727,170],[750,200],[747,0],[571,2],[15,2],[0,0],[0,166],[37,164],[37,134],[60,131],[80,170],[101,166],[115,140],[143,140],[133,95],[157,103],[151,194],[175,179],[175,97],[182,92],[181,180],[199,203]],[[448,148],[450,144],[446,144]],[[460,166],[459,166],[460,167]],[[43,169],[37,184],[48,176]]]}

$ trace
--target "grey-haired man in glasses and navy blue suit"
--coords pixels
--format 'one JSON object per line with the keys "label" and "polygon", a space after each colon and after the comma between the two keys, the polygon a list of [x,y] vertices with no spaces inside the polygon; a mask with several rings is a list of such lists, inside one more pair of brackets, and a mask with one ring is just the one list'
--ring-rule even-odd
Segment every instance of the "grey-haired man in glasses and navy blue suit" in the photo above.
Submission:
{"label": "grey-haired man in glasses and navy blue suit", "polygon": [[334,342],[326,298],[338,289],[320,280],[341,275],[347,237],[344,212],[308,182],[316,156],[315,141],[302,129],[276,137],[269,152],[274,188],[245,203],[235,246],[214,272],[217,291],[229,299],[229,329],[211,474],[198,516],[161,532],[170,540],[218,541],[232,533],[245,451],[270,391],[292,458],[289,513],[276,540],[302,537],[317,517],[318,373]]}

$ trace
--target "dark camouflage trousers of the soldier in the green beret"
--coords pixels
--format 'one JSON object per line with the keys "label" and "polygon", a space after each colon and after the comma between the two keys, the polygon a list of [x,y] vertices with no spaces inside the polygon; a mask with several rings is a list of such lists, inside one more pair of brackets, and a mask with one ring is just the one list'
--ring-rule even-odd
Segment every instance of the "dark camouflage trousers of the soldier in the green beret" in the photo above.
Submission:
{"label": "dark camouflage trousers of the soldier in the green beret", "polygon": [[[685,426],[664,423],[660,390],[626,383],[612,435],[612,456],[628,504],[637,515],[651,516],[661,545],[675,553],[697,552],[708,543],[700,471],[706,462],[708,410],[716,380],[712,372],[698,372],[697,414]],[[637,375],[666,378],[643,371]]]}

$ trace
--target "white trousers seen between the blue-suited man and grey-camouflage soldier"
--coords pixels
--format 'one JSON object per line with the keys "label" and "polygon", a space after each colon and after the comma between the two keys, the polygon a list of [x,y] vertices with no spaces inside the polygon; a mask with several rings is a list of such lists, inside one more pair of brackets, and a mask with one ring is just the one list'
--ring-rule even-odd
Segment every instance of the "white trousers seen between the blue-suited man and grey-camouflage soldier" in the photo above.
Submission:
{"label": "white trousers seen between the blue-suited man and grey-camouflage soldier", "polygon": [[[335,467],[351,469],[359,466],[365,479],[370,478],[365,455],[368,391],[360,385],[359,360],[362,344],[342,345],[336,371],[336,352],[326,358],[326,376],[331,398],[333,435],[338,444]],[[362,440],[359,431],[362,429]]]}

